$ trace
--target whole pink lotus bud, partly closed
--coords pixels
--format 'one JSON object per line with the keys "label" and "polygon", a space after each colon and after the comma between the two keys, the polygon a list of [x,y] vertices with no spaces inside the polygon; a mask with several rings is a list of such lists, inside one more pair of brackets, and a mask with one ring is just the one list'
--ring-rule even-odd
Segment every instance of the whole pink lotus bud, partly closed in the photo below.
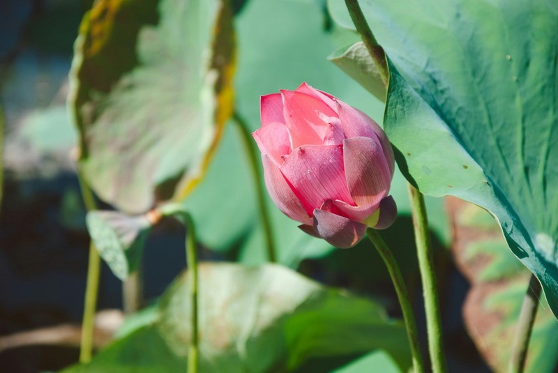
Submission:
{"label": "whole pink lotus bud, partly closed", "polygon": [[262,96],[260,111],[267,190],[303,231],[350,248],[393,223],[393,151],[375,121],[306,83]]}

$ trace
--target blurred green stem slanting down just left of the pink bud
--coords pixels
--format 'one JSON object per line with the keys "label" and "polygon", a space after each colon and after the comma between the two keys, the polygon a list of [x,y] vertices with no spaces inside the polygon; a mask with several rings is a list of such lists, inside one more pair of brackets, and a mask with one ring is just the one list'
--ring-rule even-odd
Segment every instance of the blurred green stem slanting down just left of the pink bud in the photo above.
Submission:
{"label": "blurred green stem slanting down just left of the pink bud", "polygon": [[248,128],[248,124],[246,123],[246,121],[237,112],[234,112],[233,119],[239,126],[244,149],[246,149],[246,155],[248,155],[248,160],[250,162],[250,169],[252,169],[252,176],[254,177],[254,182],[256,185],[259,216],[262,219],[262,224],[264,225],[264,233],[266,236],[267,255],[269,261],[273,263],[277,259],[276,249],[275,243],[273,241],[273,230],[271,229],[271,218],[269,216],[269,210],[266,204],[266,193],[262,178],[262,172],[259,169],[259,159],[257,157],[257,151],[255,149],[254,141],[252,139],[252,136],[250,135],[250,129]]}

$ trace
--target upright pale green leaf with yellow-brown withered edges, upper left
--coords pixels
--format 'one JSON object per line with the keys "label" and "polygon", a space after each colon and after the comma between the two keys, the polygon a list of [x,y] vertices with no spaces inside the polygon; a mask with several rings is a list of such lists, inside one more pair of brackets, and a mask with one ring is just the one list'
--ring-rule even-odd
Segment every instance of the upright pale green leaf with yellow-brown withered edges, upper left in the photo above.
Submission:
{"label": "upright pale green leaf with yellow-brown withered edges, upper left", "polygon": [[192,188],[232,112],[233,55],[227,1],[96,1],[75,42],[69,104],[101,199],[142,213]]}

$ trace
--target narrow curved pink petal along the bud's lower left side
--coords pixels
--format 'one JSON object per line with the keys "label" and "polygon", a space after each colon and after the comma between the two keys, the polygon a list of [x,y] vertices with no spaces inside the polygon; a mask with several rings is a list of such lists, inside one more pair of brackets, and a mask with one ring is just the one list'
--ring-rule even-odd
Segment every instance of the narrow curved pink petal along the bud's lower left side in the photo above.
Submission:
{"label": "narrow curved pink petal along the bud's lower left side", "polygon": [[[289,187],[279,168],[268,155],[262,154],[267,191],[279,210],[289,218],[303,224],[312,224],[312,218],[299,198]],[[311,211],[310,211],[311,213]]]}

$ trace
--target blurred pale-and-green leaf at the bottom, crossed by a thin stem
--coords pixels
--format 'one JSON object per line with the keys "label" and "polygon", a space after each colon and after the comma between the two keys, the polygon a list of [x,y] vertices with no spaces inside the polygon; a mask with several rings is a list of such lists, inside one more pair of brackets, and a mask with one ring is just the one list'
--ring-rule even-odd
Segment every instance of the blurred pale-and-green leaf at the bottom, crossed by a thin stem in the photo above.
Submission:
{"label": "blurred pale-and-green leaf at the bottom, crossed by a thin stem", "polygon": [[[128,328],[91,363],[66,372],[184,372],[189,319],[183,274],[151,323]],[[380,346],[405,371],[411,365],[406,338],[402,324],[372,300],[325,288],[283,266],[199,267],[199,372],[284,372],[324,353],[359,356]]]}

